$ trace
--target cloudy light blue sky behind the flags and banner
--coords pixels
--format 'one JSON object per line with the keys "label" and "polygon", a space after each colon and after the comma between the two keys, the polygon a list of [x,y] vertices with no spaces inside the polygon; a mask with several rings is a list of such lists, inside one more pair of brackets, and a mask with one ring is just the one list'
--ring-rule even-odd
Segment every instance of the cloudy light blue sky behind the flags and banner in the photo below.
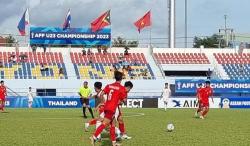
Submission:
{"label": "cloudy light blue sky behind the flags and banner", "polygon": [[[225,14],[228,26],[236,33],[250,33],[249,0],[187,1],[188,36],[217,33],[224,26]],[[152,37],[167,37],[167,0],[0,0],[0,33],[17,34],[17,23],[27,6],[35,26],[61,26],[67,9],[71,8],[72,27],[88,27],[93,19],[111,9],[113,37],[126,38],[149,36],[149,29],[139,35],[133,23],[151,9]],[[176,35],[184,36],[184,0],[176,0]]]}

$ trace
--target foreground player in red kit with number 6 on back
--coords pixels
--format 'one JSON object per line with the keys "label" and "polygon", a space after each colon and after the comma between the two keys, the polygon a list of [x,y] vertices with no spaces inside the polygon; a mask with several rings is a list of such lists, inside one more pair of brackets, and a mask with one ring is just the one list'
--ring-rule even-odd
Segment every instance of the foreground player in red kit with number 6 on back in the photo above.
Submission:
{"label": "foreground player in red kit with number 6 on back", "polygon": [[121,85],[123,73],[116,71],[114,75],[116,82],[107,85],[100,95],[102,97],[104,94],[107,94],[107,101],[104,105],[105,116],[102,124],[96,129],[94,135],[90,137],[92,145],[95,145],[97,136],[103,131],[103,129],[110,125],[110,138],[112,145],[119,146],[119,144],[116,143],[115,125],[113,124],[113,120],[116,108],[119,103],[127,97],[128,91],[126,91],[126,88]]}

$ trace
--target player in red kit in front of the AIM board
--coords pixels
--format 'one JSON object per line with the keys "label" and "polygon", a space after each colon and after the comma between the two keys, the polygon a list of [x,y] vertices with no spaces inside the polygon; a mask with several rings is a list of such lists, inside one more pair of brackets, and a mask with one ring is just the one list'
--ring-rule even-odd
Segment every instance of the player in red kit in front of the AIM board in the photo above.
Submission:
{"label": "player in red kit in front of the AIM board", "polygon": [[209,97],[212,98],[212,102],[214,102],[213,100],[213,89],[210,87],[210,81],[206,81],[206,86],[204,88],[201,89],[201,119],[205,118],[205,115],[208,113],[209,111]]}

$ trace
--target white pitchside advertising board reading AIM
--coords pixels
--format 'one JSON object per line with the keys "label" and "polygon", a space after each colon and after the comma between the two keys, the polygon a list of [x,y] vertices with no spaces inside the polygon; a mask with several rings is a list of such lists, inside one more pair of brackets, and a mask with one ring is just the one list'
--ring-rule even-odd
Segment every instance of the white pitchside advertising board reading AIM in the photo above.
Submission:
{"label": "white pitchside advertising board reading AIM", "polygon": [[[211,98],[209,99],[210,108],[220,108],[220,98],[214,98],[214,103]],[[168,108],[197,108],[198,101],[196,97],[171,97],[168,100]],[[162,98],[158,99],[158,108],[164,108],[164,101]]]}

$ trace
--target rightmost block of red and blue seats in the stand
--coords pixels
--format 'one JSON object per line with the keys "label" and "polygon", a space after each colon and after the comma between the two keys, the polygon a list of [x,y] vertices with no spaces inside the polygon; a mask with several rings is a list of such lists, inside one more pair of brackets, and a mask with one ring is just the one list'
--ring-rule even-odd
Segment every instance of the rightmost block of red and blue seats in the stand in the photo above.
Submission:
{"label": "rightmost block of red and blue seats in the stand", "polygon": [[213,55],[230,79],[250,79],[250,53],[214,53]]}

